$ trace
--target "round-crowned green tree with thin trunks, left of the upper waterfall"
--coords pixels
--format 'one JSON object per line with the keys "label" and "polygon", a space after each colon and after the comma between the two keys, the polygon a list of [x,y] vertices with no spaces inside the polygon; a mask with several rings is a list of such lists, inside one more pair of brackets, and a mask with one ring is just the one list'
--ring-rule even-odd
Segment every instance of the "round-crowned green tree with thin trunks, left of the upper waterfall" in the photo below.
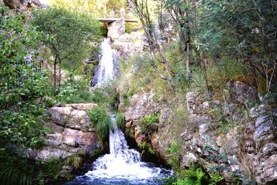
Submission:
{"label": "round-crowned green tree with thin trunks, left of the upper waterfall", "polygon": [[100,34],[100,26],[96,19],[64,8],[37,10],[31,23],[37,26],[37,30],[42,31],[43,42],[54,56],[54,87],[57,81],[57,64],[60,66],[61,77],[62,61],[78,62],[89,58],[90,51],[96,47],[93,46],[93,42],[98,42]]}

